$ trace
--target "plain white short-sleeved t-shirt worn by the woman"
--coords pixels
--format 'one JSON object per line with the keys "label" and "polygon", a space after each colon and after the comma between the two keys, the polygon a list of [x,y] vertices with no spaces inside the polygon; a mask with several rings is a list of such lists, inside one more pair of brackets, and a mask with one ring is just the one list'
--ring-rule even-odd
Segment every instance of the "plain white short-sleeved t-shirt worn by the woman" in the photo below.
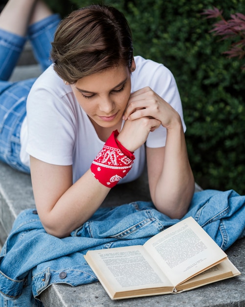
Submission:
{"label": "plain white short-sleeved t-shirt worn by the woman", "polygon": [[[131,92],[151,87],[179,113],[186,129],[176,81],[162,64],[134,57],[136,70],[132,73]],[[166,128],[150,132],[146,146],[163,147]],[[105,144],[87,114],[83,111],[70,86],[64,84],[51,65],[34,83],[27,99],[27,120],[21,130],[21,160],[29,166],[29,155],[46,163],[72,165],[73,182],[89,169],[93,159]],[[145,146],[134,152],[135,160],[128,175],[120,183],[140,176],[145,166]]]}

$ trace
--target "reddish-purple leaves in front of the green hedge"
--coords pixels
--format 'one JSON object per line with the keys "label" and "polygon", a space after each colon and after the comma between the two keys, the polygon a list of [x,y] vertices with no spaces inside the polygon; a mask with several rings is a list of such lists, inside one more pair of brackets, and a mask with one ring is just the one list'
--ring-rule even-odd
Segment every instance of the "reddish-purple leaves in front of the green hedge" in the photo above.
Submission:
{"label": "reddish-purple leaves in front of the green hedge", "polygon": [[[238,57],[242,59],[245,56],[245,15],[241,13],[235,13],[230,15],[229,20],[225,20],[223,17],[223,10],[219,10],[213,6],[213,9],[206,9],[202,15],[207,15],[206,18],[220,18],[221,21],[215,23],[214,28],[210,32],[214,32],[214,35],[223,36],[224,39],[236,39],[231,45],[228,51],[223,53],[227,54],[229,58]],[[242,66],[245,70],[245,65]]]}

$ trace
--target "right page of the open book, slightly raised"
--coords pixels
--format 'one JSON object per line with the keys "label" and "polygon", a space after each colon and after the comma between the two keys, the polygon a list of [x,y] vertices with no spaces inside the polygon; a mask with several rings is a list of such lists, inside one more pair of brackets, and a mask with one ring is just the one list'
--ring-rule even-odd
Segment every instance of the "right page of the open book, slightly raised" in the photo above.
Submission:
{"label": "right page of the open book, slightly raised", "polygon": [[192,217],[163,230],[144,246],[175,286],[227,257]]}

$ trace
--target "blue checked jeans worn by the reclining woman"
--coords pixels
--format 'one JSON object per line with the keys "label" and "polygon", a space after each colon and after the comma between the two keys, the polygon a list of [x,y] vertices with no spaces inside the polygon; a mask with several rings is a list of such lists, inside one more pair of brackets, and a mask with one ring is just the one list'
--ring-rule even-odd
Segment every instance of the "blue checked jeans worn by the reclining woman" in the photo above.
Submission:
{"label": "blue checked jeans worn by the reclining woman", "polygon": [[26,116],[26,99],[35,78],[9,82],[27,39],[43,70],[50,64],[49,54],[55,30],[60,22],[57,14],[29,26],[27,37],[0,29],[0,160],[29,173],[20,160],[20,131]]}

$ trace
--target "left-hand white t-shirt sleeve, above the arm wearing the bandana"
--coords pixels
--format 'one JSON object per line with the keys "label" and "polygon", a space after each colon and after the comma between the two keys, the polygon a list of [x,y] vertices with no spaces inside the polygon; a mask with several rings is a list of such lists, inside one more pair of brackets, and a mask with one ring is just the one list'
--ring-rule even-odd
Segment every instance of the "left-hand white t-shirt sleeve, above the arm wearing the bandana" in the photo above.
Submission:
{"label": "left-hand white t-shirt sleeve, above the arm wearing the bandana", "polygon": [[35,85],[27,99],[26,151],[46,163],[72,165],[76,128],[74,112],[66,100],[50,88]]}

